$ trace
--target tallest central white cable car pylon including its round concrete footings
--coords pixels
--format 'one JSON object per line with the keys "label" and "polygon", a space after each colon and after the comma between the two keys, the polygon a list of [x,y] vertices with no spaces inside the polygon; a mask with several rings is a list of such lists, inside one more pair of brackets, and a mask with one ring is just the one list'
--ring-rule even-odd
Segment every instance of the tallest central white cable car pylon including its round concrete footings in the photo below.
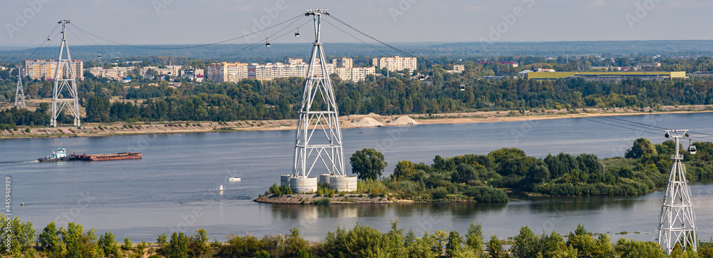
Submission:
{"label": "tallest central white cable car pylon including its round concrete footings", "polygon": [[[322,48],[322,16],[329,13],[326,9],[314,9],[304,15],[314,17],[314,47],[299,108],[292,175],[282,175],[280,182],[294,192],[317,191],[317,182],[351,192],[356,190],[356,177],[345,174],[337,100]],[[319,174],[319,181],[309,176],[314,170],[324,171]]]}

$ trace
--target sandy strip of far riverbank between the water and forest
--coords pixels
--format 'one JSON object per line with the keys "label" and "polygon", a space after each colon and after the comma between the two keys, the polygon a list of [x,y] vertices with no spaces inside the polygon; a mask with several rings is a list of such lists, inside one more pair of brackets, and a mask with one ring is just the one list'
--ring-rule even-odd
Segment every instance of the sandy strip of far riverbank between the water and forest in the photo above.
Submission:
{"label": "sandy strip of far riverbank between the water and forest", "polygon": [[[588,108],[578,110],[540,110],[538,112],[525,111],[481,111],[472,113],[441,113],[441,114],[416,114],[409,115],[417,124],[446,124],[446,123],[493,123],[524,120],[562,119],[562,118],[587,118],[602,115],[644,115],[663,113],[699,113],[713,112],[713,105],[682,105],[665,106],[660,110],[650,108]],[[393,126],[390,123],[401,115],[347,115],[339,118],[343,129],[356,128],[359,120],[369,117],[374,118],[382,126]],[[0,139],[13,138],[57,138],[57,137],[91,137],[111,135],[140,135],[160,133],[207,133],[230,131],[258,131],[258,130],[295,130],[297,120],[240,120],[226,123],[219,122],[152,122],[152,123],[86,123],[82,128],[61,126],[58,128],[30,128],[20,127],[17,130],[0,131]]]}

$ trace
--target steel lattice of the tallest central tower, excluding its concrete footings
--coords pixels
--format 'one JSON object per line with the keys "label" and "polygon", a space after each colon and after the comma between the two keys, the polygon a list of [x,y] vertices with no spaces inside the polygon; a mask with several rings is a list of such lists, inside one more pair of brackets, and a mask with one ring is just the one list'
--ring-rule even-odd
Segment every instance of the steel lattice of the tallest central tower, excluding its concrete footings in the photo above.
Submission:
{"label": "steel lattice of the tallest central tower, excluding its concrete footings", "polygon": [[324,165],[331,175],[344,177],[344,151],[334,88],[327,73],[320,38],[322,15],[326,9],[308,10],[314,16],[314,48],[304,83],[294,145],[294,177],[307,177],[315,165]]}

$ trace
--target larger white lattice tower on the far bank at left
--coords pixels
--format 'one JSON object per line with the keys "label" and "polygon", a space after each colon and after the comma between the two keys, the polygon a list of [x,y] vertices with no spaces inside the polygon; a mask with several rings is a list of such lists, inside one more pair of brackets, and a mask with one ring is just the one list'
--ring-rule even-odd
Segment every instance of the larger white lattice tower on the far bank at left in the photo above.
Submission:
{"label": "larger white lattice tower on the far bank at left", "polygon": [[[77,70],[76,65],[72,62],[69,46],[67,46],[66,27],[68,23],[69,20],[60,20],[58,22],[58,24],[62,24],[62,46],[59,48],[59,58],[57,59],[54,86],[52,88],[52,119],[50,120],[50,126],[52,127],[57,127],[57,117],[64,107],[67,107],[69,113],[74,117],[74,126],[81,126],[77,94]],[[65,50],[67,51],[67,58],[63,59],[62,56]],[[60,98],[59,95],[65,89],[68,91],[69,98],[64,95]]]}

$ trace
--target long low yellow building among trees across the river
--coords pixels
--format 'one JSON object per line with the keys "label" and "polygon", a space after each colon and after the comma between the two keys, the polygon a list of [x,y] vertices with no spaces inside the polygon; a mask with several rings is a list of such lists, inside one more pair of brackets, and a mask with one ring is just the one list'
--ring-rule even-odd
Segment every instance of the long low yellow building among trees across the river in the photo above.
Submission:
{"label": "long low yellow building among trees across the river", "polygon": [[554,80],[565,78],[584,78],[587,81],[621,81],[625,78],[640,78],[642,80],[663,80],[686,78],[686,72],[637,71],[637,72],[529,72],[525,77],[529,80]]}

